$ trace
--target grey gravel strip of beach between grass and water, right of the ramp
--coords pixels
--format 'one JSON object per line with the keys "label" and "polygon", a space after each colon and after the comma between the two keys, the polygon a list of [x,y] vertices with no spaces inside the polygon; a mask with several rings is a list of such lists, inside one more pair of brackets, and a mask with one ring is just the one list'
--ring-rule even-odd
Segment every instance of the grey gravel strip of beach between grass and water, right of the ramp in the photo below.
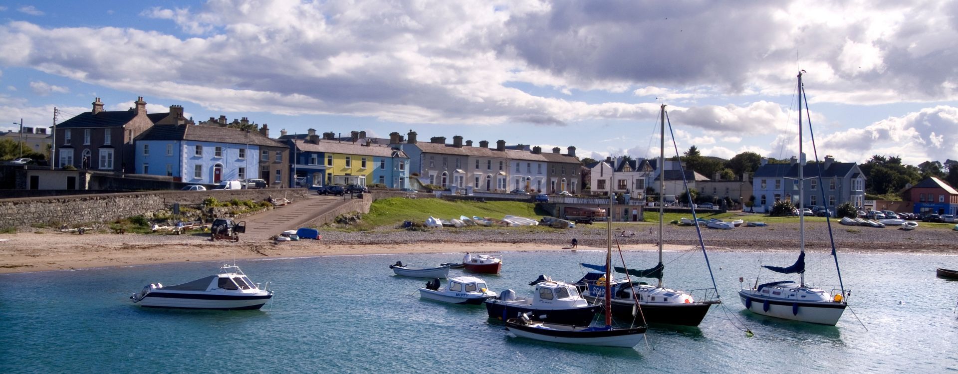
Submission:
{"label": "grey gravel strip of beach between grass and water, right of the ramp", "polygon": [[[835,246],[853,251],[896,252],[954,252],[958,250],[958,231],[942,228],[918,228],[903,231],[895,228],[848,227],[833,224]],[[422,230],[422,229],[421,229]],[[628,224],[616,227],[613,235],[622,245],[656,244],[658,226],[653,224]],[[621,236],[625,230],[627,236]],[[323,231],[323,241],[329,244],[414,244],[414,243],[539,243],[565,246],[572,238],[579,245],[604,247],[606,230],[604,224],[580,225],[574,229],[528,228],[443,228],[410,231],[401,229],[378,229],[373,231]],[[666,225],[663,233],[667,245],[698,243],[696,228]],[[798,247],[799,224],[778,223],[764,228],[739,227],[735,230],[702,229],[702,238],[707,248],[735,250],[793,250]],[[824,223],[806,224],[806,248],[808,251],[829,251],[828,228]]]}

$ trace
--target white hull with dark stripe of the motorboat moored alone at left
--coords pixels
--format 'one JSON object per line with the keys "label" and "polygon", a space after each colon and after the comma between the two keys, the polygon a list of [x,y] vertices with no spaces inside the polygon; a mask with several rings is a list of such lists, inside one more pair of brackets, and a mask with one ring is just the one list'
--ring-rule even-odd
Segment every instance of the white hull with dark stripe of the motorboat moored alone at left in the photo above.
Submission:
{"label": "white hull with dark stripe of the motorboat moored alone at left", "polygon": [[153,291],[138,303],[148,308],[250,310],[262,308],[271,297],[270,293],[216,295]]}

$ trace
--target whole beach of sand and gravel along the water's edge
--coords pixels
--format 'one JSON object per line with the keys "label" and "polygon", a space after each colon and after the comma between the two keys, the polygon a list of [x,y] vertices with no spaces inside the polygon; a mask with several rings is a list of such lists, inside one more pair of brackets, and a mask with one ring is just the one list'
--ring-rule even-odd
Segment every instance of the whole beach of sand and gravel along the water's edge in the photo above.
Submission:
{"label": "whole beach of sand and gravel along the water's edge", "polygon": [[[583,225],[584,226],[584,225]],[[624,251],[654,251],[657,226],[631,225],[615,241]],[[794,251],[797,224],[769,228],[702,231],[709,251]],[[209,234],[158,235],[87,233],[53,230],[0,234],[0,274],[43,272],[185,261],[229,261],[233,258],[300,257],[381,253],[497,253],[568,251],[572,237],[578,250],[604,250],[603,225],[572,230],[544,228],[471,228],[430,231],[383,229],[376,231],[321,231],[321,240],[210,241]],[[831,250],[824,224],[807,225],[807,251]],[[958,231],[833,227],[835,244],[846,253],[958,254]],[[666,250],[696,248],[695,228],[667,226]],[[455,260],[458,255],[450,256]]]}

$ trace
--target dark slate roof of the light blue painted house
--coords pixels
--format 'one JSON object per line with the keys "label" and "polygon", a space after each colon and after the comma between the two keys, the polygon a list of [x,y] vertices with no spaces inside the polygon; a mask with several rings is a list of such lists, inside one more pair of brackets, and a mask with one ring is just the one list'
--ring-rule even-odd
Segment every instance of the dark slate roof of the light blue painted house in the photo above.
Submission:
{"label": "dark slate roof of the light blue painted house", "polygon": [[230,127],[200,126],[195,124],[154,124],[136,137],[137,141],[196,141],[212,143],[251,144],[287,148],[284,143],[264,137],[256,131]]}

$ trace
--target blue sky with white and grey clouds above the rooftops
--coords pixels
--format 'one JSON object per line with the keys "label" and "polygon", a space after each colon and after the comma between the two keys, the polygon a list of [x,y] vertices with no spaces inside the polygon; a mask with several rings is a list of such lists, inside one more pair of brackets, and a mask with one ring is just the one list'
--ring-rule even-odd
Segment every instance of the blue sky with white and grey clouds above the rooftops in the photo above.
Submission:
{"label": "blue sky with white and grey clouds above the rooftops", "polygon": [[667,157],[783,159],[799,71],[810,160],[811,132],[819,159],[958,160],[958,2],[0,3],[0,131],[143,97],[274,138],[413,130],[647,158],[665,104]]}

